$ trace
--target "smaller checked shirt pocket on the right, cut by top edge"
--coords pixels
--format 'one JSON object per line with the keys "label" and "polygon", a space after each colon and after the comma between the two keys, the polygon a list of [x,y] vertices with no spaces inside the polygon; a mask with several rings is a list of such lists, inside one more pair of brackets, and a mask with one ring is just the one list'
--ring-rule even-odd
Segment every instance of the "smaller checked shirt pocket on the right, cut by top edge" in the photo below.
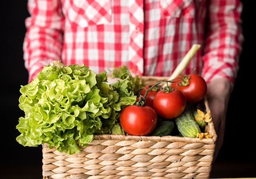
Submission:
{"label": "smaller checked shirt pocket on the right, cut by top edge", "polygon": [[193,18],[195,16],[194,0],[159,0],[161,13],[175,18]]}

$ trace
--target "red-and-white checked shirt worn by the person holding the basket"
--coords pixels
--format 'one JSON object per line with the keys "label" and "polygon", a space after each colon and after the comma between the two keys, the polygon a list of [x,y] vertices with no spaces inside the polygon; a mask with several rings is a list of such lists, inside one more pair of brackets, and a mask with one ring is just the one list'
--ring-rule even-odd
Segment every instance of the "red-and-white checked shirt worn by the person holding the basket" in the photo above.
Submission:
{"label": "red-and-white checked shirt worn by the person holding the basket", "polygon": [[171,76],[193,44],[183,74],[234,83],[243,35],[238,0],[28,0],[25,67],[29,81],[53,60],[94,72],[127,65]]}

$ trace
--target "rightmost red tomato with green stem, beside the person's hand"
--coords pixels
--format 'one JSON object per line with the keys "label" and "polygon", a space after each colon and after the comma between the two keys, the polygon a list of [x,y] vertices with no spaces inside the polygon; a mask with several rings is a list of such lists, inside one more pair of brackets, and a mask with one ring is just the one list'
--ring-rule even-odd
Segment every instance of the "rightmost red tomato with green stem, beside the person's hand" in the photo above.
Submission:
{"label": "rightmost red tomato with green stem, beside the person's hand", "polygon": [[207,92],[207,84],[198,74],[177,76],[171,86],[182,91],[187,103],[197,103]]}

